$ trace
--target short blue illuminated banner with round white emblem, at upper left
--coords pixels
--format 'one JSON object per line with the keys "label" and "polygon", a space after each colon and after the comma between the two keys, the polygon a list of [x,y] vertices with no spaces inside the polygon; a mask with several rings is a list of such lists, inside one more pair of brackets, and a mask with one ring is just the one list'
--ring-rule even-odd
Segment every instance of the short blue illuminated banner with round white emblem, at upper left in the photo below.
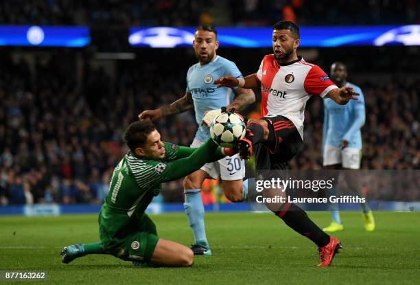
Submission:
{"label": "short blue illuminated banner with round white emblem, at upper left", "polygon": [[89,27],[0,25],[0,46],[84,47]]}

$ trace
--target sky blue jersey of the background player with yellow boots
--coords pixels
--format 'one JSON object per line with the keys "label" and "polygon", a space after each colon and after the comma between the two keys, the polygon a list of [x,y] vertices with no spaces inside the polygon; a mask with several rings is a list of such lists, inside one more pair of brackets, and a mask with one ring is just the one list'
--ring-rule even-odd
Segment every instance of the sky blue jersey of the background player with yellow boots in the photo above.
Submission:
{"label": "sky blue jersey of the background player with yellow boots", "polygon": [[350,100],[345,105],[339,105],[327,98],[324,101],[323,151],[325,145],[340,146],[343,139],[349,141],[349,148],[362,149],[360,128],[364,125],[364,96],[360,87],[347,82],[354,91],[360,93],[358,100]]}

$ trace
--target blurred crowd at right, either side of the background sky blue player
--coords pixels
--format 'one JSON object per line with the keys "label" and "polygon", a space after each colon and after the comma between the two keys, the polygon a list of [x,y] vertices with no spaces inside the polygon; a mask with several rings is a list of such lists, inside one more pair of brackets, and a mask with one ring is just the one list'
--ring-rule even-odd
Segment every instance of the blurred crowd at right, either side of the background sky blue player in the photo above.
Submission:
{"label": "blurred crowd at right, either side of the background sky blue player", "polygon": [[[362,128],[362,169],[412,169],[420,165],[420,82],[358,84],[364,92],[366,122]],[[318,98],[319,99],[319,98]],[[305,112],[305,148],[294,161],[296,168],[322,166],[323,102],[312,100]]]}

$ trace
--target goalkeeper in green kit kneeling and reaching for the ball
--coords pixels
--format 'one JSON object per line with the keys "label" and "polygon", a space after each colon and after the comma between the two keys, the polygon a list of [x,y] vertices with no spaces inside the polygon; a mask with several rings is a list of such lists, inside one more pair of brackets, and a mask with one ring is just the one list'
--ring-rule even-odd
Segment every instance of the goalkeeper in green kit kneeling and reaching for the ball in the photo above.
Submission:
{"label": "goalkeeper in green kit kneeling and reaching for the ball", "polygon": [[150,121],[130,124],[124,141],[130,151],[114,170],[99,214],[101,241],[64,247],[62,262],[110,254],[137,266],[191,266],[191,249],[159,238],[145,209],[159,194],[161,183],[180,179],[235,150],[220,148],[211,139],[199,148],[165,143]]}

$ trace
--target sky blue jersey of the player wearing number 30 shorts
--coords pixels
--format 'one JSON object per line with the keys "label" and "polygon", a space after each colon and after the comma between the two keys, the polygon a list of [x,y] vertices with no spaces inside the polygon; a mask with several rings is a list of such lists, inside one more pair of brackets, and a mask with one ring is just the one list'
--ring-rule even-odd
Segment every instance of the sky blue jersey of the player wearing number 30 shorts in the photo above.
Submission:
{"label": "sky blue jersey of the player wearing number 30 shorts", "polygon": [[198,130],[195,139],[207,141],[210,136],[209,128],[201,126],[202,117],[205,111],[220,109],[231,104],[235,92],[226,87],[216,88],[214,80],[231,75],[235,78],[242,77],[234,62],[215,56],[214,60],[207,65],[200,65],[200,62],[189,67],[187,72],[187,92],[191,93],[194,100],[194,111],[196,111],[196,122]]}

